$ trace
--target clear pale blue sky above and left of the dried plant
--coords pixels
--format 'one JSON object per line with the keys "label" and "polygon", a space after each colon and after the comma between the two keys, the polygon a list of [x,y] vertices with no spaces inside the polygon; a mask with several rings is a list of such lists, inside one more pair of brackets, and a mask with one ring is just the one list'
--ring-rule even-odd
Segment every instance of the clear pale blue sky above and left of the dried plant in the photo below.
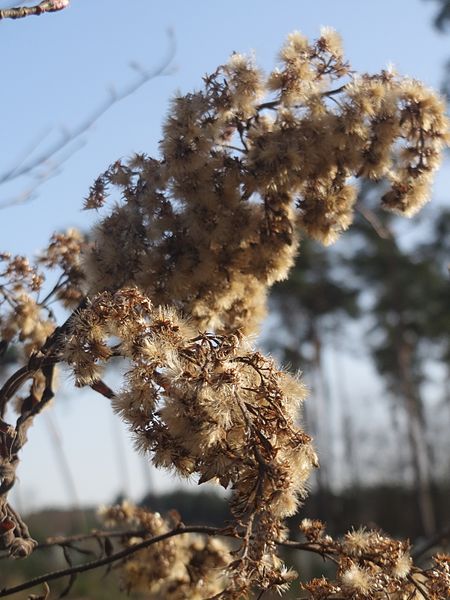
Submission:
{"label": "clear pale blue sky above and left of the dried plant", "polygon": [[[0,8],[7,5],[11,3],[0,1]],[[0,250],[30,255],[55,230],[87,229],[95,215],[80,209],[94,178],[132,152],[156,154],[171,95],[195,89],[233,51],[254,52],[268,70],[289,32],[314,37],[322,25],[329,25],[341,33],[355,69],[377,71],[393,63],[400,73],[438,87],[450,57],[450,35],[433,29],[435,11],[435,4],[425,0],[72,0],[60,13],[0,22],[0,177],[37,140],[40,144],[28,160],[64,130],[76,128],[111,89],[120,92],[135,81],[130,63],[147,70],[158,67],[168,51],[168,29],[176,43],[169,75],[115,104],[82,136],[81,148],[69,146],[74,153],[39,187],[36,197],[0,210]],[[57,165],[52,161],[41,171]],[[444,170],[438,197],[445,198],[449,179]],[[32,178],[24,177],[0,186],[0,205],[33,185]],[[364,388],[363,381],[356,385]],[[93,392],[73,394],[70,389],[66,382],[51,419],[80,501],[107,502],[124,486],[139,496],[147,485],[142,462],[128,446],[123,449],[127,435],[107,402]],[[17,501],[25,508],[70,501],[52,427],[48,418],[40,418],[23,451]],[[118,456],[125,457],[123,464]],[[155,473],[152,480],[157,490],[173,485]]]}

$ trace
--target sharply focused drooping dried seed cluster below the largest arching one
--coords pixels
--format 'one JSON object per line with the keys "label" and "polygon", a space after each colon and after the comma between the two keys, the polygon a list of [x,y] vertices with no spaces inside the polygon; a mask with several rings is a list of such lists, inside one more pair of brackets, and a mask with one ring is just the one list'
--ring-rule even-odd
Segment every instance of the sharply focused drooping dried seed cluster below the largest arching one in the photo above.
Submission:
{"label": "sharply focused drooping dried seed cluster below the largest arching one", "polygon": [[237,334],[198,334],[136,289],[98,294],[71,331],[65,360],[79,385],[97,381],[113,355],[130,361],[113,406],[155,465],[232,488],[244,536],[234,563],[237,591],[253,581],[278,583],[275,541],[317,464],[309,436],[295,423],[303,385]]}

